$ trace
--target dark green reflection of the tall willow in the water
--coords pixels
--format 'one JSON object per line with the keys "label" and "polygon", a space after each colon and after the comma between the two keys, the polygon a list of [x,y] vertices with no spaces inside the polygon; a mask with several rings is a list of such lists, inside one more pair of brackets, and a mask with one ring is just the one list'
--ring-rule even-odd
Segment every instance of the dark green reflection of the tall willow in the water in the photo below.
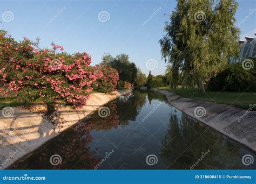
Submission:
{"label": "dark green reflection of the tall willow in the water", "polygon": [[170,115],[170,124],[162,145],[160,156],[169,163],[169,169],[190,169],[208,150],[210,153],[194,169],[235,169],[241,166],[239,148],[231,139],[211,129],[206,130],[203,123],[185,114],[181,114],[181,119],[176,114]]}

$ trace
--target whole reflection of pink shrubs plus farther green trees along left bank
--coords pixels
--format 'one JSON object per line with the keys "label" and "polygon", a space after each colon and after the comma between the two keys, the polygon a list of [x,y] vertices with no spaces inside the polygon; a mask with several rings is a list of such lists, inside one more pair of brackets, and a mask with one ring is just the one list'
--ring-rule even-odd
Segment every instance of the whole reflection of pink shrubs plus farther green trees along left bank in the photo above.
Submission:
{"label": "whole reflection of pink shrubs plus farther green trees along left bank", "polygon": [[[129,121],[135,121],[145,102],[146,94],[138,91],[119,97],[106,105],[110,110],[109,116],[102,118],[96,111],[10,168],[93,169],[102,158],[97,153],[97,148],[88,146],[93,140],[91,130],[111,130],[117,128],[119,124],[128,125]],[[48,144],[54,147],[46,146]],[[62,158],[60,165],[51,165],[50,157],[53,154],[58,154]]]}

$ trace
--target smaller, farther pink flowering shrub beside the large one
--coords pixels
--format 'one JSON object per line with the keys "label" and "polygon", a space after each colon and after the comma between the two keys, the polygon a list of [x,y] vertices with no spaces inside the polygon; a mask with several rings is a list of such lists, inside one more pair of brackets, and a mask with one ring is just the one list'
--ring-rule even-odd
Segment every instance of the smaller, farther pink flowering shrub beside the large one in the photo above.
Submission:
{"label": "smaller, farther pink flowering shrub beside the large one", "polygon": [[119,75],[116,69],[109,66],[96,65],[94,67],[98,79],[95,81],[94,88],[102,93],[111,93],[116,90]]}

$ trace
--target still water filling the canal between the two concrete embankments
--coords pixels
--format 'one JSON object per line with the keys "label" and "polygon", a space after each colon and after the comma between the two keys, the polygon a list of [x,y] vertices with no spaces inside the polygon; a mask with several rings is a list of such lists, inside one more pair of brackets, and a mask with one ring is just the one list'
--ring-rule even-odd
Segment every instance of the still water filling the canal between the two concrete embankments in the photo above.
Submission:
{"label": "still water filling the canal between the two concrete embankments", "polygon": [[255,160],[253,151],[176,110],[156,92],[134,90],[105,107],[102,117],[96,111],[10,168],[256,168],[256,161],[242,163],[245,154]]}

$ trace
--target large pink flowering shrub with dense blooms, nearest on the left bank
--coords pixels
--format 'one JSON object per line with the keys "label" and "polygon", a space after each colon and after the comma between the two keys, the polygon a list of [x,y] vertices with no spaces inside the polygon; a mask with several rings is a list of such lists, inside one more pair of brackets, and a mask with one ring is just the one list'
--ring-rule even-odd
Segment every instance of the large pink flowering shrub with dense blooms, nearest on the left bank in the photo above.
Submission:
{"label": "large pink flowering shrub with dense blooms, nearest on the left bank", "polygon": [[76,109],[82,107],[93,89],[93,82],[100,76],[90,66],[91,57],[85,52],[70,55],[60,52],[62,46],[51,46],[51,49],[40,49],[38,40],[34,43],[24,38],[17,42],[1,31],[0,86],[3,94],[22,102],[40,98],[48,105],[48,111],[54,109],[57,101]]}

